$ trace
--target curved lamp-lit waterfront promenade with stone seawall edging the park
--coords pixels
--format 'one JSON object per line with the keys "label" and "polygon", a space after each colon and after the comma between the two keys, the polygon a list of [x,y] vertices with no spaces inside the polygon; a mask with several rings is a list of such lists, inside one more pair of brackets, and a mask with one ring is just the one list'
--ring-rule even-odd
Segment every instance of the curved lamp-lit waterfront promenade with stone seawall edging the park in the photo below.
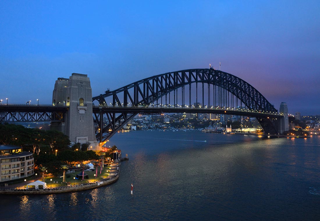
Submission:
{"label": "curved lamp-lit waterfront promenade with stone seawall edging the park", "polygon": [[29,183],[32,183],[33,180],[28,181],[26,184],[24,182],[20,185],[8,186],[0,188],[0,194],[53,194],[53,193],[67,193],[67,192],[76,192],[81,190],[94,189],[101,186],[109,185],[116,182],[119,178],[120,172],[120,162],[119,165],[115,163],[112,165],[110,174],[108,178],[103,178],[96,181],[88,181],[83,184],[76,185],[67,185],[67,186],[48,186],[45,189],[27,189],[25,186]]}

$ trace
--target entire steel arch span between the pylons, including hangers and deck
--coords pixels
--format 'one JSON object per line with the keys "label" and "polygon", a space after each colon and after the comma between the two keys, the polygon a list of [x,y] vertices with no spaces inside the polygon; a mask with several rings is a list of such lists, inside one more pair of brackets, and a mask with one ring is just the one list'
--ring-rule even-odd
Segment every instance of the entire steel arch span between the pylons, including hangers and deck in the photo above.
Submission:
{"label": "entire steel arch span between the pylons, including hangers and deck", "polygon": [[[99,125],[96,137],[100,142],[113,136],[141,112],[220,113],[223,109],[225,114],[255,116],[265,132],[278,134],[275,122],[280,115],[274,106],[241,78],[213,68],[152,76],[105,91],[92,98],[93,104],[96,101],[99,105],[93,106],[93,114],[94,122]],[[160,108],[151,108],[155,106]],[[108,118],[106,126],[102,122],[104,114]]]}

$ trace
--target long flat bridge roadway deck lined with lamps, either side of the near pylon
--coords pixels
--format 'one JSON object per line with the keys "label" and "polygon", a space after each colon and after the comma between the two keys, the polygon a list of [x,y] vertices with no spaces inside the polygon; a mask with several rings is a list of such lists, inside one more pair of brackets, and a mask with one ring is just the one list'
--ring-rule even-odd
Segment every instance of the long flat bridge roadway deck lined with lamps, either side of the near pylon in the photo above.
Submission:
{"label": "long flat bridge roadway deck lined with lamps, either side of the near pylon", "polygon": [[[0,104],[0,122],[40,122],[64,121],[68,111],[63,105],[25,105],[25,104]],[[240,108],[219,107],[181,107],[181,106],[153,106],[153,107],[110,107],[93,106],[93,114],[102,113],[133,113],[133,114],[162,114],[162,113],[205,113],[205,114],[230,114],[251,117],[277,117],[275,112],[263,112]]]}

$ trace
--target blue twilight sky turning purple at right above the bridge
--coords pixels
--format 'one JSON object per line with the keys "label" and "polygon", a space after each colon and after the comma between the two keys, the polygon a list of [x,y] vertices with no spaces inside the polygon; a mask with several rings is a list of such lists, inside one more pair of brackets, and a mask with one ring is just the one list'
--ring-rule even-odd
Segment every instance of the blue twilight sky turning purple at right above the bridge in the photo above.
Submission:
{"label": "blue twilight sky turning purple at right above the bridge", "polygon": [[213,67],[279,109],[320,114],[320,1],[0,1],[0,99],[50,104],[58,77],[92,95]]}

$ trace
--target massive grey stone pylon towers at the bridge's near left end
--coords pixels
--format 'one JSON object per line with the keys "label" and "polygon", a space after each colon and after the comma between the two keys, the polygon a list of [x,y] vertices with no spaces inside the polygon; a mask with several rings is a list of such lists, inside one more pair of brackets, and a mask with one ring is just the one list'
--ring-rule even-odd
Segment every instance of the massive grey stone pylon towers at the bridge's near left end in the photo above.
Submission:
{"label": "massive grey stone pylon towers at the bridge's near left end", "polygon": [[73,73],[58,78],[52,94],[53,105],[68,108],[65,123],[51,123],[51,128],[69,136],[72,143],[87,143],[89,149],[99,150],[92,117],[92,89],[87,75]]}

